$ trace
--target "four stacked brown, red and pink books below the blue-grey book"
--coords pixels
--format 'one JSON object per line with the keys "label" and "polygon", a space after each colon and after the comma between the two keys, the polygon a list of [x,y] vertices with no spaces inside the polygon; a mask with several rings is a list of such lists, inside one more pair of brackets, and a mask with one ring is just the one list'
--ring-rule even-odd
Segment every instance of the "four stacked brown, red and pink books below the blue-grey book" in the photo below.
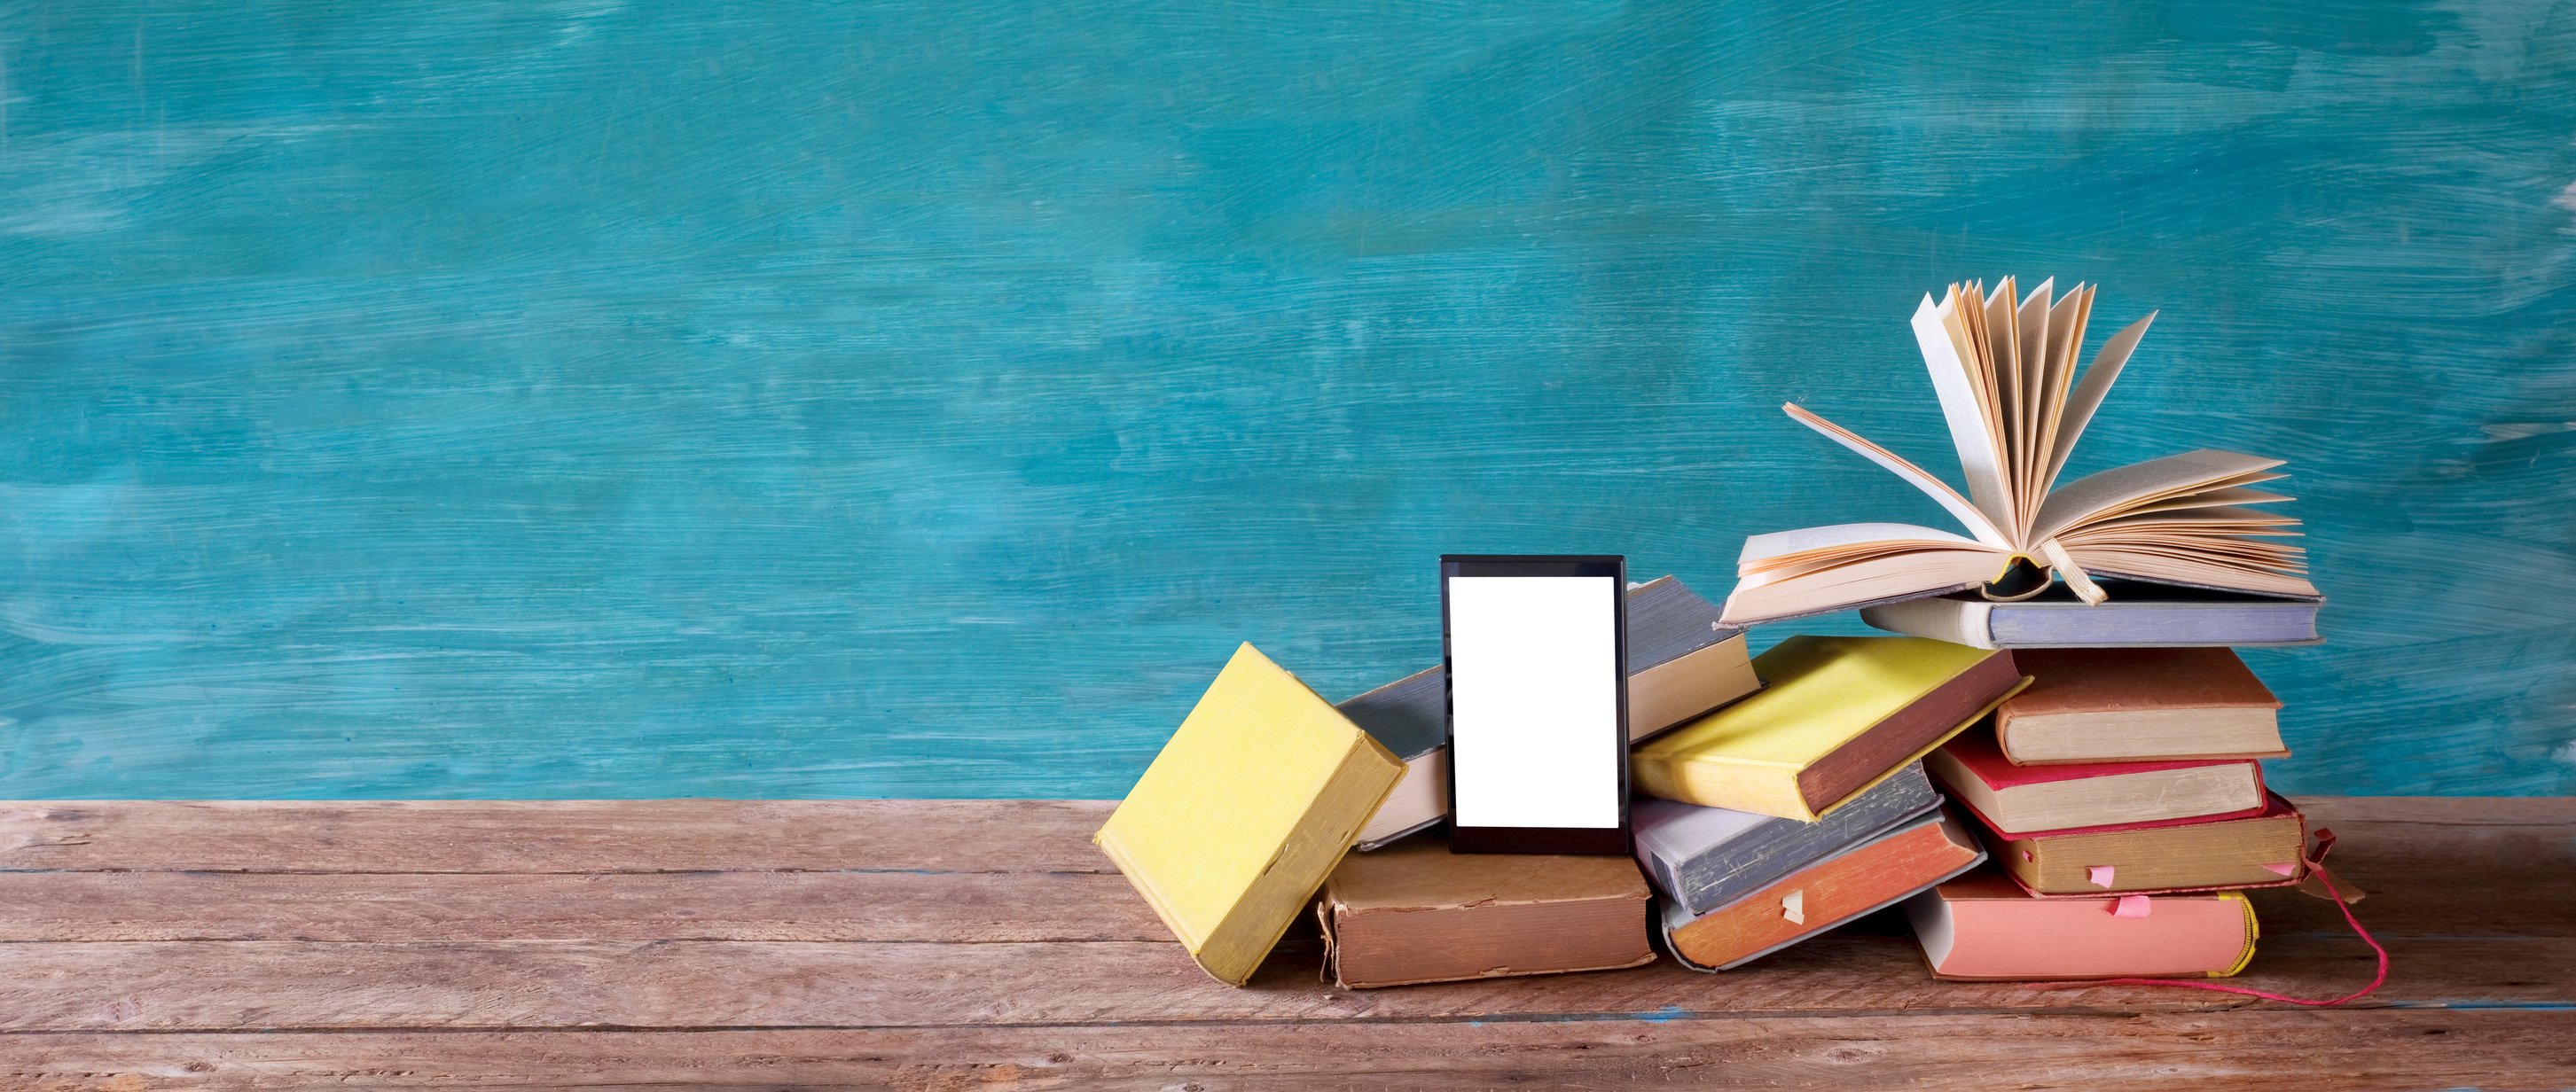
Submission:
{"label": "four stacked brown, red and pink books below the blue-grey book", "polygon": [[2014,659],[2032,685],[1924,760],[1994,860],[1906,904],[1932,974],[2241,971],[2259,930],[2239,891],[2306,873],[2306,816],[2262,780],[2287,755],[2280,701],[2223,646]]}

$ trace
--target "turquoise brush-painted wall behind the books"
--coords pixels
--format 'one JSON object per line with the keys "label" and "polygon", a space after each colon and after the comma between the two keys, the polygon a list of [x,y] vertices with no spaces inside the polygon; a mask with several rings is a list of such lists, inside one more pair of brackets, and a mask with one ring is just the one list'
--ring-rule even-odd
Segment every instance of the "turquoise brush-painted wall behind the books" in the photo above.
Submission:
{"label": "turquoise brush-painted wall behind the books", "polygon": [[2566,3],[8,3],[0,796],[1118,796],[1437,551],[1940,523],[1775,407],[1947,466],[2002,273],[2293,461],[2280,786],[2566,793],[2571,245]]}

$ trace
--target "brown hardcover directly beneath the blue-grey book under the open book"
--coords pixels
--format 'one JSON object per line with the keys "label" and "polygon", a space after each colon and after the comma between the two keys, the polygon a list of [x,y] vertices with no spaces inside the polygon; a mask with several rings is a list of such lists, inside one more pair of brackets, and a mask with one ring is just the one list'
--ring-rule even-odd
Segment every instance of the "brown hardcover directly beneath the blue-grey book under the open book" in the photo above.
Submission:
{"label": "brown hardcover directly beneath the blue-grey book under the open book", "polygon": [[2022,649],[1996,706],[2014,765],[2282,757],[2280,698],[2231,649]]}

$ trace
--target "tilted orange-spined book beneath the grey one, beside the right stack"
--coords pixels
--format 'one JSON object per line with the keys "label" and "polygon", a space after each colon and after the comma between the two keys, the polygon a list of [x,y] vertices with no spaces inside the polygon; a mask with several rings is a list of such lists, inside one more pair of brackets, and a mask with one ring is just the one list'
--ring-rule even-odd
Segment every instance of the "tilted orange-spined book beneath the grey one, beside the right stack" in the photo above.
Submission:
{"label": "tilted orange-spined book beneath the grey one, beside the right stack", "polygon": [[1726,971],[1826,932],[1986,860],[1955,816],[1896,827],[1708,914],[1664,901],[1664,943],[1692,971]]}

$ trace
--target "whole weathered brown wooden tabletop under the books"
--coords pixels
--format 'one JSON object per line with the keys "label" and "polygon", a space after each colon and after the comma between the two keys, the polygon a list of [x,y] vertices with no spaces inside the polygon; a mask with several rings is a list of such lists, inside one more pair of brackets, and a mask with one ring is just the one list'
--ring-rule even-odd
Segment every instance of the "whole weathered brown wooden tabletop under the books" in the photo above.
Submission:
{"label": "whole weathered brown wooden tabletop under the books", "polygon": [[[2318,798],[2354,1007],[1945,984],[1870,919],[1703,976],[1203,976],[1095,801],[0,804],[0,1084],[2571,1087],[2576,801]],[[2239,984],[2370,979],[2254,891]]]}

